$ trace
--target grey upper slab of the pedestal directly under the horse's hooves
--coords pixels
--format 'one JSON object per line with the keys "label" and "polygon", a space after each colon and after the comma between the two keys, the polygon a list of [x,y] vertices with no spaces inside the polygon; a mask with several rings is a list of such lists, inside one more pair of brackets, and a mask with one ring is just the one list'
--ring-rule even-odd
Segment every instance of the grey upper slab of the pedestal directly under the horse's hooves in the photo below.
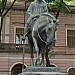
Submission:
{"label": "grey upper slab of the pedestal directly under the horse's hooves", "polygon": [[22,72],[58,72],[57,67],[27,67]]}

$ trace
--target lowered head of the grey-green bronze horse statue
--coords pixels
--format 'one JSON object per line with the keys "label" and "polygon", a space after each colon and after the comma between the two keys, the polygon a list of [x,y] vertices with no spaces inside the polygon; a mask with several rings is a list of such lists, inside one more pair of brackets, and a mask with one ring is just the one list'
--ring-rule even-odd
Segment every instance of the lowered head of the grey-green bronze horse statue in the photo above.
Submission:
{"label": "lowered head of the grey-green bronze horse statue", "polygon": [[57,20],[55,19],[55,17],[48,18],[48,25],[46,27],[47,45],[49,44],[51,45],[52,43],[55,42],[56,23],[57,23]]}

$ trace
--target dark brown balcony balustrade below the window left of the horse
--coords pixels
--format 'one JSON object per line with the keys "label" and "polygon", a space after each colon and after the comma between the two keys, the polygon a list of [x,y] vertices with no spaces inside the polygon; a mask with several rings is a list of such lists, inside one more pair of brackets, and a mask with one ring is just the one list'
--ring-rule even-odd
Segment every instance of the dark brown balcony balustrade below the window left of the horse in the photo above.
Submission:
{"label": "dark brown balcony balustrade below the window left of the horse", "polygon": [[[23,44],[0,43],[0,53],[22,53]],[[25,45],[25,52],[29,52],[29,45]]]}

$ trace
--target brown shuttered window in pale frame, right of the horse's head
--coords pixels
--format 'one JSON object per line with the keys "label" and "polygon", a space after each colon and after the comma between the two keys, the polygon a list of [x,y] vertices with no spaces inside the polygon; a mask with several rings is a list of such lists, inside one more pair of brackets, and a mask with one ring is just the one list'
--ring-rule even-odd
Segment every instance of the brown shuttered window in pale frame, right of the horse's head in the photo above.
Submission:
{"label": "brown shuttered window in pale frame, right of the horse's head", "polygon": [[67,46],[75,47],[75,30],[67,30]]}

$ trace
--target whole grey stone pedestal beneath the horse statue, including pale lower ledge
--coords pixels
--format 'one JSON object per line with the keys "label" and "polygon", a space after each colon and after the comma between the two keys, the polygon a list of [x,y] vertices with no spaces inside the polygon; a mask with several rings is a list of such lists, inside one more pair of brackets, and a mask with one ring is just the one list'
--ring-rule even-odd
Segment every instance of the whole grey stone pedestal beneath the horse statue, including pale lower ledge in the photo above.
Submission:
{"label": "whole grey stone pedestal beneath the horse statue, including pale lower ledge", "polygon": [[60,73],[57,67],[27,67],[19,75],[67,75]]}

